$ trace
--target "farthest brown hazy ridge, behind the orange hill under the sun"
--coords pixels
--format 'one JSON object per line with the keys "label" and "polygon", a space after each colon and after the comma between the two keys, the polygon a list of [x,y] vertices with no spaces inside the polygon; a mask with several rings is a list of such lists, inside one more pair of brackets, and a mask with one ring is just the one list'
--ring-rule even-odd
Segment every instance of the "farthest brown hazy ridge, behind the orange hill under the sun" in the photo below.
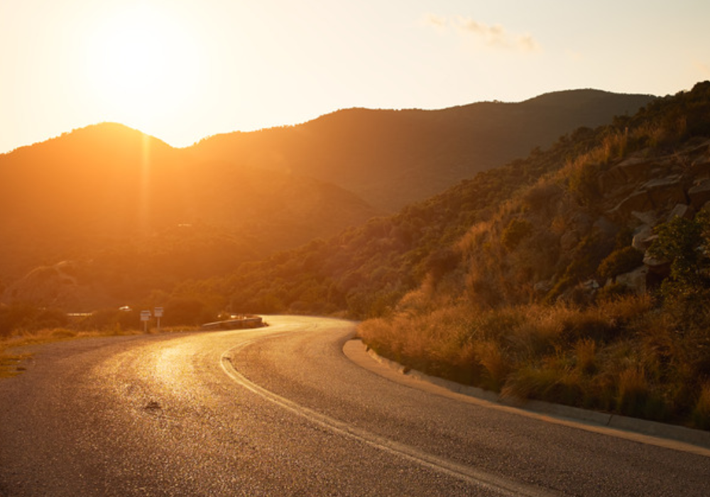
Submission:
{"label": "farthest brown hazy ridge, behind the orange hill under the sun", "polygon": [[190,151],[318,178],[395,212],[654,98],[579,89],[436,111],[346,109],[298,126],[212,136]]}

